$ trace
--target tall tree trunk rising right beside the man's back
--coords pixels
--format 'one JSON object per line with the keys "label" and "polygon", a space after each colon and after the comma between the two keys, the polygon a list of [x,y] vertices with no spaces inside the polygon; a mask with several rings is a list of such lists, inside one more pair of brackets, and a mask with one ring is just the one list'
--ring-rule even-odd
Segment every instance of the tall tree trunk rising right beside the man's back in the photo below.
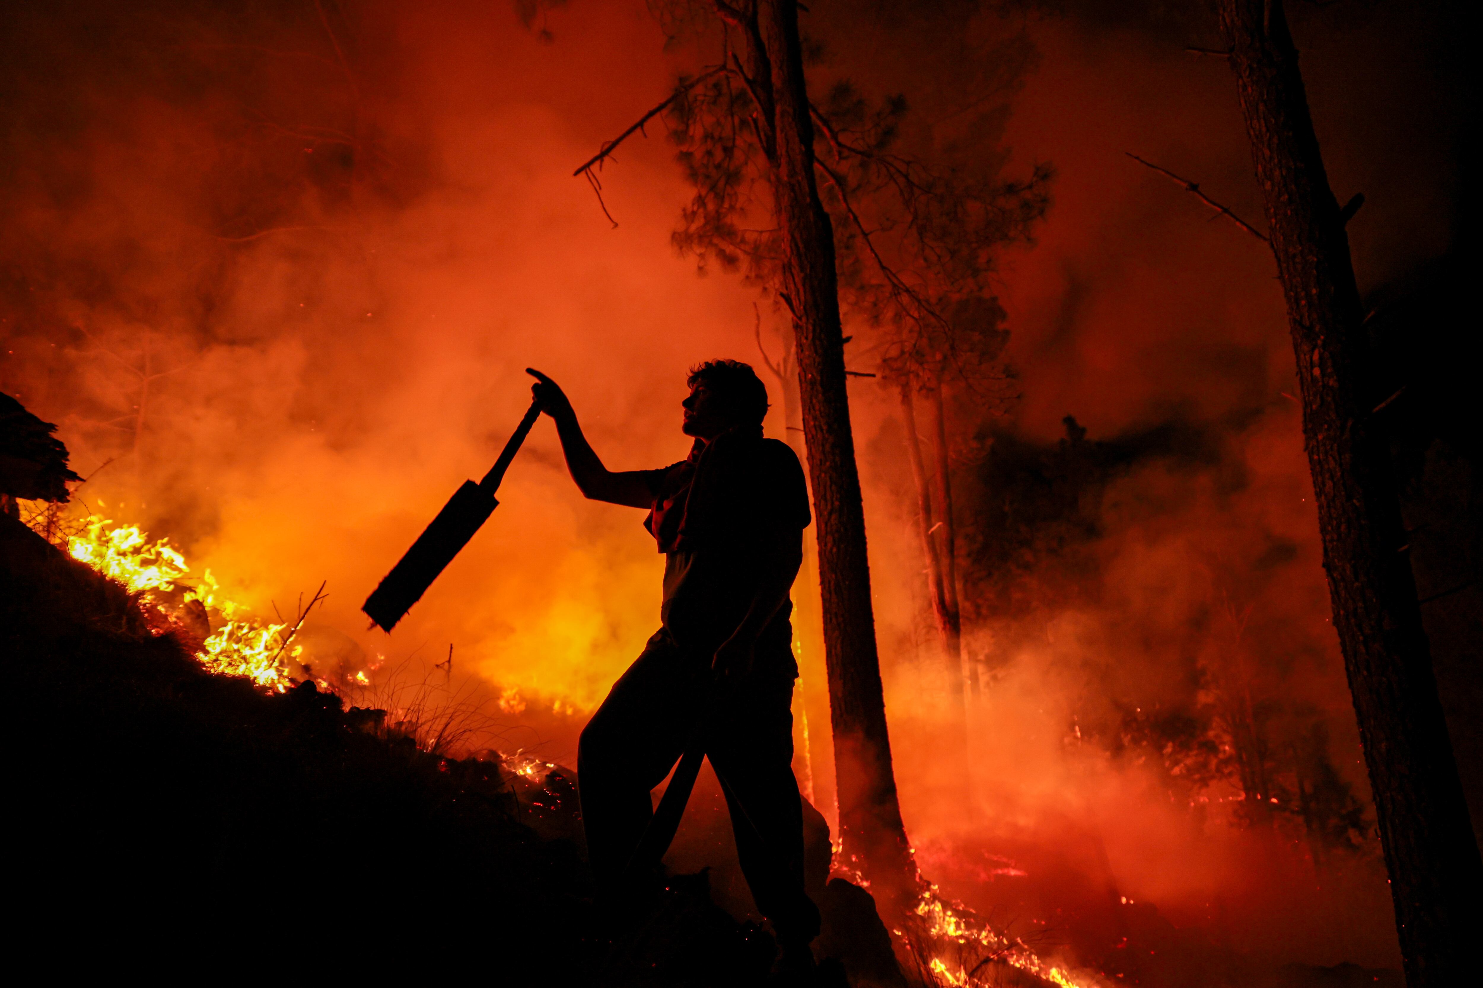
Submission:
{"label": "tall tree trunk rising right beside the man's back", "polygon": [[771,123],[768,157],[783,241],[782,293],[793,313],[804,440],[814,490],[839,835],[845,858],[872,881],[905,887],[915,883],[916,868],[891,770],[865,510],[845,391],[833,228],[814,185],[813,121],[796,3],[758,0],[753,24],[761,50],[749,62],[758,76],[765,65],[771,83],[770,99],[764,102],[773,105],[761,110]]}

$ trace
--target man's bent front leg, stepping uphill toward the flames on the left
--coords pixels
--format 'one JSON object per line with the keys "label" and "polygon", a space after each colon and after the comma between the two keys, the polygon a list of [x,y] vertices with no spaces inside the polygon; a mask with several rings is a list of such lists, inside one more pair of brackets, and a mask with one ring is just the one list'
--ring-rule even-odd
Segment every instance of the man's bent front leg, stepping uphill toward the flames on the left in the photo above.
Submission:
{"label": "man's bent front leg, stepping uphill toward the flames on the left", "polygon": [[701,681],[660,631],[581,732],[577,791],[587,859],[604,890],[620,884],[654,816],[650,792],[684,750],[696,723]]}

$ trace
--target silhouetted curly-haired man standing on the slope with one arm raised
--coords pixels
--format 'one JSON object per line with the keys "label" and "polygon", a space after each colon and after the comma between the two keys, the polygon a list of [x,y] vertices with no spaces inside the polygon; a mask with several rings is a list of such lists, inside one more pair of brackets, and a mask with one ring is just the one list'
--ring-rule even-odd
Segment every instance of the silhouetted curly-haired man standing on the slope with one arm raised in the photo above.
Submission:
{"label": "silhouetted curly-haired man standing on the slope with one arm raised", "polygon": [[[712,360],[690,373],[690,456],[614,473],[567,395],[532,370],[572,480],[587,498],[648,510],[664,553],[663,627],[581,732],[577,785],[598,881],[620,890],[664,781],[701,718],[742,871],[777,932],[785,964],[808,963],[819,911],[804,895],[802,807],[793,779],[793,632],[787,591],[802,560],[808,490],[786,443],[762,438],[767,388],[752,367]],[[715,701],[710,683],[719,677]]]}

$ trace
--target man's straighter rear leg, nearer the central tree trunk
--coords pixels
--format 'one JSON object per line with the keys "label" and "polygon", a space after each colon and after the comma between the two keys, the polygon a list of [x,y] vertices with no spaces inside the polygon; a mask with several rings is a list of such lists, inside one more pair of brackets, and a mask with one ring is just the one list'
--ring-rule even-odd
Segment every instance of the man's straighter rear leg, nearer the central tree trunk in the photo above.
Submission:
{"label": "man's straighter rear leg, nearer the central tree trunk", "polygon": [[742,872],[785,952],[807,948],[819,936],[819,909],[804,892],[804,812],[792,769],[793,672],[762,667],[722,689],[730,695],[707,752],[731,810]]}

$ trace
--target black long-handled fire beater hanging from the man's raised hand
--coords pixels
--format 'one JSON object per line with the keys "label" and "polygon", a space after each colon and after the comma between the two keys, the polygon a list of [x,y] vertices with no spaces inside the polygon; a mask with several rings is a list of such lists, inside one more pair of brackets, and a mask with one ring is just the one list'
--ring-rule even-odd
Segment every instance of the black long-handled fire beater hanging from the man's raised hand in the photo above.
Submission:
{"label": "black long-handled fire beater hanging from the man's raised hand", "polygon": [[494,492],[500,489],[504,471],[510,468],[510,461],[515,459],[515,453],[519,452],[521,443],[540,415],[540,406],[532,401],[483,480],[479,483],[466,480],[433,523],[412,542],[412,548],[406,550],[402,561],[393,566],[386,579],[366,597],[360,610],[366,612],[372,624],[380,625],[383,631],[394,628],[408,609],[421,600],[443,567],[458,555],[458,550],[467,545],[479,526],[489,518],[500,504],[494,499]]}

